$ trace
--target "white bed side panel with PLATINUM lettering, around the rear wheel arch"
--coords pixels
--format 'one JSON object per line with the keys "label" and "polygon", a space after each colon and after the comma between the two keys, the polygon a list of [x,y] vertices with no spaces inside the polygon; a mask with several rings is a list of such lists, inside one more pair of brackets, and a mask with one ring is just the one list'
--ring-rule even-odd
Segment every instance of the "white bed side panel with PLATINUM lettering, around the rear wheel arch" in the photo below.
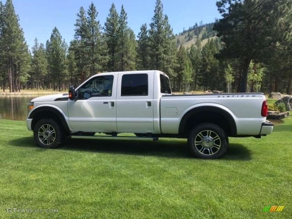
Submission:
{"label": "white bed side panel with PLATINUM lettering, around the rear wheel arch", "polygon": [[[224,109],[234,118],[238,135],[258,135],[261,124],[266,120],[266,117],[261,116],[264,100],[265,96],[261,93],[162,96],[161,132],[178,133],[180,121],[190,109],[215,106]],[[177,115],[169,114],[169,108],[176,108]]]}

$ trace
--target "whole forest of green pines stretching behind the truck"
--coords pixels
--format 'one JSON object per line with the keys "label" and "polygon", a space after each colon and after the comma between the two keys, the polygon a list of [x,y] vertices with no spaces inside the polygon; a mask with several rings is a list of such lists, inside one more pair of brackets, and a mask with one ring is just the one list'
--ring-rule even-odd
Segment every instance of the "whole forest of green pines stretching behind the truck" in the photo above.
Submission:
{"label": "whole forest of green pines stretching behind the truck", "polygon": [[[67,90],[99,72],[156,69],[173,92],[281,92],[291,94],[292,1],[221,0],[213,23],[173,34],[161,0],[138,36],[124,6],[112,4],[104,25],[93,3],[80,7],[69,45],[55,27],[30,51],[12,0],[0,1],[0,88]],[[151,16],[151,15],[150,15]],[[183,24],[182,24],[183,27]],[[185,34],[185,47],[178,35]],[[202,43],[203,40],[207,41]]]}

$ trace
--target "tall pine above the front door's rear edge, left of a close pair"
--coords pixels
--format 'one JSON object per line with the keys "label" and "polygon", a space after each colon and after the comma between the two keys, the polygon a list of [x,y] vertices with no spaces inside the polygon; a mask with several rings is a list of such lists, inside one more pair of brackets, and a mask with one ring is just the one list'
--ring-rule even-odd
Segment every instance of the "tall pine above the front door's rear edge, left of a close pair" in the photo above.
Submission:
{"label": "tall pine above the front door's rear edge, left of a close pair", "polygon": [[119,26],[119,14],[117,13],[114,3],[112,3],[109,9],[109,14],[107,15],[107,20],[105,22],[105,36],[106,43],[109,49],[109,61],[107,64],[107,70],[110,72],[117,71],[117,47],[118,47],[118,36],[117,29]]}

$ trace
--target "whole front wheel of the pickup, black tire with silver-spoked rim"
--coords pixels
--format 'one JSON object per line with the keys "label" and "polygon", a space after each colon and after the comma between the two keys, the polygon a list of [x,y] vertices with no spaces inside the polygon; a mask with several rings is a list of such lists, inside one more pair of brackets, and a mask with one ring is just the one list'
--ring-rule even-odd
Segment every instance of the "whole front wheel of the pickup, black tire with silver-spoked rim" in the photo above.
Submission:
{"label": "whole front wheel of the pickup, black tire with silver-spoked rim", "polygon": [[62,127],[52,119],[41,119],[34,127],[34,142],[39,147],[60,147],[65,137]]}

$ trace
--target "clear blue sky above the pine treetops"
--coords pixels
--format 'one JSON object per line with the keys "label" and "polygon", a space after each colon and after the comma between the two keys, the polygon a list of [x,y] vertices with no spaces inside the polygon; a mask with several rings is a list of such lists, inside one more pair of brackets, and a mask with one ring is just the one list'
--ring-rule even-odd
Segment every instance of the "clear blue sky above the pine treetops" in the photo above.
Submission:
{"label": "clear blue sky above the pine treetops", "polygon": [[[220,18],[217,11],[216,0],[161,0],[164,7],[164,14],[168,15],[169,23],[173,33],[188,29],[196,22],[213,22]],[[6,0],[2,0],[5,4]],[[39,43],[46,44],[50,38],[53,28],[56,26],[62,35],[62,39],[68,43],[73,39],[76,14],[81,6],[87,11],[91,2],[98,11],[98,20],[104,26],[109,8],[115,4],[118,13],[121,5],[124,4],[128,14],[128,26],[133,29],[136,35],[140,32],[143,23],[148,27],[154,15],[156,0],[13,0],[16,14],[20,18],[20,27],[24,31],[25,40],[29,49],[37,38]],[[60,15],[59,15],[60,14]]]}

